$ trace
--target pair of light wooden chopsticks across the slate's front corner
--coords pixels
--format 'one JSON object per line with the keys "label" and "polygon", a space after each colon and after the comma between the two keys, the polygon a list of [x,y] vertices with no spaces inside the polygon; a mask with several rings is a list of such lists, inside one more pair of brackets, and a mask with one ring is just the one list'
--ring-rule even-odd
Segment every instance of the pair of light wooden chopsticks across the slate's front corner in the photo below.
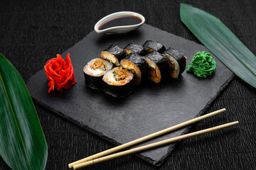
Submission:
{"label": "pair of light wooden chopsticks across the slate's front corner", "polygon": [[[213,128],[208,128],[208,129],[205,129],[205,130],[199,130],[199,131],[196,131],[196,132],[188,133],[186,135],[180,135],[178,137],[173,137],[173,138],[170,138],[168,140],[162,140],[160,142],[154,142],[152,144],[144,145],[142,147],[136,147],[134,149],[129,149],[129,150],[124,151],[124,152],[119,152],[119,153],[116,153],[116,154],[110,154],[112,152],[119,151],[120,149],[124,149],[124,148],[130,147],[132,145],[136,145],[136,144],[138,144],[140,142],[144,142],[144,141],[152,139],[154,137],[158,137],[159,135],[164,135],[167,132],[171,132],[171,131],[177,130],[179,128],[183,128],[183,127],[185,127],[187,125],[191,125],[192,123],[196,123],[196,122],[198,122],[200,120],[209,118],[209,117],[211,117],[213,115],[218,115],[219,113],[223,113],[224,111],[226,111],[225,108],[220,109],[218,111],[214,111],[212,113],[208,113],[206,115],[202,115],[202,116],[200,116],[198,118],[193,118],[191,120],[188,120],[186,122],[180,123],[178,125],[174,125],[174,126],[172,126],[170,128],[166,128],[164,130],[160,130],[159,132],[154,132],[151,135],[146,135],[146,136],[141,137],[141,138],[139,138],[137,140],[133,140],[133,141],[127,142],[127,143],[125,143],[123,145],[119,145],[117,147],[113,147],[111,149],[107,149],[107,150],[105,150],[103,152],[100,152],[100,153],[97,153],[97,154],[93,154],[90,157],[86,157],[84,159],[80,159],[80,160],[78,160],[76,162],[70,163],[70,164],[68,164],[68,166],[70,168],[79,169],[79,168],[82,168],[84,166],[89,166],[91,164],[97,164],[99,162],[105,162],[107,160],[114,159],[114,158],[117,158],[117,157],[123,157],[125,155],[133,154],[135,152],[142,152],[142,151],[144,151],[146,149],[151,149],[151,148],[154,148],[154,147],[160,147],[162,145],[167,145],[169,143],[176,142],[178,140],[183,140],[183,139],[186,139],[188,137],[193,137],[193,136],[196,136],[196,135],[202,135],[204,133],[212,132],[214,130],[220,130],[220,129],[223,129],[223,128],[228,128],[228,127],[230,127],[232,125],[237,125],[239,123],[238,121],[235,121],[235,122],[232,122],[232,123],[226,123],[226,124],[223,124],[223,125],[215,126]],[[107,154],[110,154],[110,155],[105,156]],[[103,157],[103,156],[105,156],[105,157]]]}

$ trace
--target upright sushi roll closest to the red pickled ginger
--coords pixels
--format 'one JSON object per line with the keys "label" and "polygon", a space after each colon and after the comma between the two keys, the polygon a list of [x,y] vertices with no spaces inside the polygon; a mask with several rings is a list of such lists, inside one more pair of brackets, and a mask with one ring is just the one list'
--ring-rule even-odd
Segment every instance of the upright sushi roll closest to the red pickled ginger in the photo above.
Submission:
{"label": "upright sushi roll closest to the red pickled ginger", "polygon": [[90,60],[83,69],[85,85],[91,89],[100,89],[102,87],[103,75],[112,67],[113,64],[111,62],[100,58]]}

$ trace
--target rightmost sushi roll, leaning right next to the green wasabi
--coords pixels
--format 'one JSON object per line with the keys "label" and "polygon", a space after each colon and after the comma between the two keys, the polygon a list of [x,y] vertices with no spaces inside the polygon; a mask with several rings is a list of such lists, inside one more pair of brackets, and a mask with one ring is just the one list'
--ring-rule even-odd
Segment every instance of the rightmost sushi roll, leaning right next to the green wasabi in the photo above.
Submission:
{"label": "rightmost sushi roll, leaning right next to the green wasabi", "polygon": [[164,57],[169,61],[170,77],[177,79],[186,68],[186,57],[174,48],[169,47],[164,53]]}

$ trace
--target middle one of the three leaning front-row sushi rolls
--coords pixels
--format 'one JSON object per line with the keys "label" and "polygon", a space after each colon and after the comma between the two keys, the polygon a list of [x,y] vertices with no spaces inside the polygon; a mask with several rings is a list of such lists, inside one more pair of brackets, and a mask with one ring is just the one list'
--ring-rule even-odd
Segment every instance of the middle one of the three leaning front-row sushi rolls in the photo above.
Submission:
{"label": "middle one of the three leaning front-row sushi rolls", "polygon": [[151,81],[158,84],[162,79],[166,79],[166,77],[168,77],[170,68],[166,57],[161,55],[159,52],[153,51],[144,56],[144,59],[149,67],[148,77]]}

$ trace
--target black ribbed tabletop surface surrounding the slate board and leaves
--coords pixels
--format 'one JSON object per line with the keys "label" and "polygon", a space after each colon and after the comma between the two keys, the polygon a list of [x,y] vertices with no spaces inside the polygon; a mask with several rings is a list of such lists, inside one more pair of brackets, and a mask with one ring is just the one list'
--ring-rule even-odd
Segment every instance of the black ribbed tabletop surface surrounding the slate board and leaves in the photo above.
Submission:
{"label": "black ribbed tabletop surface surrounding the slate board and leaves", "polygon": [[[26,81],[47,60],[81,40],[103,16],[115,11],[142,13],[146,23],[188,40],[196,40],[179,18],[181,1],[0,1],[0,52]],[[220,18],[254,53],[256,1],[184,1]],[[227,108],[203,120],[192,131],[240,120],[220,130],[183,140],[164,164],[152,166],[134,156],[87,169],[256,169],[256,90],[238,77],[208,109]],[[36,104],[48,142],[46,169],[68,169],[68,163],[113,147],[109,142]],[[234,130],[235,129],[235,130]],[[0,169],[9,167],[0,159]]]}

